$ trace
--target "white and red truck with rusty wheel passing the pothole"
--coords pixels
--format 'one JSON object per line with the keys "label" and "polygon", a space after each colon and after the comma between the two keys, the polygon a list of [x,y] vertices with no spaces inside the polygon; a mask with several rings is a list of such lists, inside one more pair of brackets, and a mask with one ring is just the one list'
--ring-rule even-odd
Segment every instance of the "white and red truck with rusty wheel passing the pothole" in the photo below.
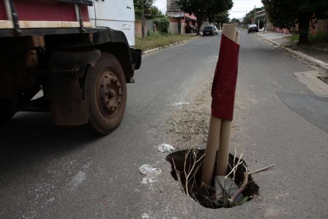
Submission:
{"label": "white and red truck with rusty wheel passing the pothole", "polygon": [[0,123],[49,112],[55,125],[122,121],[134,49],[132,0],[0,0]]}

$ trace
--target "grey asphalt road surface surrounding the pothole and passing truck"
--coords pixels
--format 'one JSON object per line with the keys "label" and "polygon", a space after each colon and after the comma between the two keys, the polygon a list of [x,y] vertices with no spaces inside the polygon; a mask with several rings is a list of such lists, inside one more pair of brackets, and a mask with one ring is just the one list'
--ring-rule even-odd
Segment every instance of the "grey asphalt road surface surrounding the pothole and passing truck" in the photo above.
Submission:
{"label": "grey asphalt road surface surrounding the pothole and passing truck", "polygon": [[[295,78],[311,67],[245,32],[237,90],[245,107],[235,119],[243,129],[231,149],[244,151],[253,169],[276,163],[255,176],[262,197],[206,209],[171,177],[156,146],[166,141],[172,104],[213,77],[219,41],[207,36],[145,55],[128,84],[124,120],[108,136],[55,127],[48,114],[17,114],[0,129],[0,217],[328,217],[328,100]],[[151,185],[141,184],[145,163],[162,169]]]}

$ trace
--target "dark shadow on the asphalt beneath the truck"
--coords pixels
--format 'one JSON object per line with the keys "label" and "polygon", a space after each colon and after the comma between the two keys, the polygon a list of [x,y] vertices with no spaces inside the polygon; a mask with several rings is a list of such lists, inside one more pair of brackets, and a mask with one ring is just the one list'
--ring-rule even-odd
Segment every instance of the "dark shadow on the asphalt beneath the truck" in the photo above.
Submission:
{"label": "dark shadow on the asphalt beneath the truck", "polygon": [[18,113],[10,123],[0,126],[0,175],[45,159],[71,154],[88,147],[100,136],[88,125],[55,126],[46,113]]}

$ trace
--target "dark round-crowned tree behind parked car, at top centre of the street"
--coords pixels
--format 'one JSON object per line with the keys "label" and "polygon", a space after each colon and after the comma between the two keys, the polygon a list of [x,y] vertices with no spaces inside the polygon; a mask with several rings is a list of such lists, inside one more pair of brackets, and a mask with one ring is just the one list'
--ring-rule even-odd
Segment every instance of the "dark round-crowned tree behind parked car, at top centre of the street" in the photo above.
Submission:
{"label": "dark round-crowned tree behind parked car, at top centre of the street", "polygon": [[226,12],[233,7],[232,0],[178,0],[177,4],[186,13],[197,17],[197,33],[203,22],[214,21],[216,14]]}

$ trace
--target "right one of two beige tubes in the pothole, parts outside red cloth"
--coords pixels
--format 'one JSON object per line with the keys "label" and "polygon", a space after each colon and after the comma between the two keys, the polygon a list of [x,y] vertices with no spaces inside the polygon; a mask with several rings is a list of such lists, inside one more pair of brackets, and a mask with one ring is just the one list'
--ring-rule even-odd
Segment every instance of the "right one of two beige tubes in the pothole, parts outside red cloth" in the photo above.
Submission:
{"label": "right one of two beige tubes in the pothole, parts outside red cloth", "polygon": [[[236,26],[237,28],[237,26]],[[223,33],[223,32],[222,32]],[[230,36],[233,34],[230,33]],[[239,44],[240,32],[235,30],[235,43]],[[228,169],[229,149],[230,149],[231,121],[222,120],[220,142],[217,161],[217,176],[225,176]]]}

